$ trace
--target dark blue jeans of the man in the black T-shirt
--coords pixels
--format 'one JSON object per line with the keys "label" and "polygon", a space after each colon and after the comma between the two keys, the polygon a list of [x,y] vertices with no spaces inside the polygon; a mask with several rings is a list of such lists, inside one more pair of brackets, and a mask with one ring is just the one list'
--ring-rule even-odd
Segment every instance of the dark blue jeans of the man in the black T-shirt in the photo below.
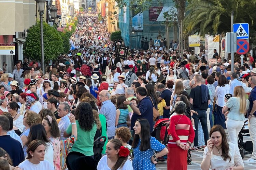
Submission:
{"label": "dark blue jeans of the man in the black T-shirt", "polygon": [[198,147],[198,122],[200,120],[202,129],[203,129],[203,136],[204,136],[204,145],[207,145],[207,140],[209,139],[208,129],[207,129],[207,114],[205,110],[202,109],[194,109],[198,113],[198,115],[193,114],[193,119],[195,121],[195,138],[194,138],[194,146]]}

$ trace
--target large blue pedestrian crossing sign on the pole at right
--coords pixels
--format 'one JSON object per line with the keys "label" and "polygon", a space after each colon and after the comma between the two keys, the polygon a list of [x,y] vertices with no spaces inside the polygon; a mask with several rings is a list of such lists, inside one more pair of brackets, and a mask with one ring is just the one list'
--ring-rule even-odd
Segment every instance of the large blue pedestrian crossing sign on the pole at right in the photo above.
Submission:
{"label": "large blue pedestrian crossing sign on the pole at right", "polygon": [[248,23],[234,23],[233,32],[237,33],[237,39],[249,38],[249,24]]}

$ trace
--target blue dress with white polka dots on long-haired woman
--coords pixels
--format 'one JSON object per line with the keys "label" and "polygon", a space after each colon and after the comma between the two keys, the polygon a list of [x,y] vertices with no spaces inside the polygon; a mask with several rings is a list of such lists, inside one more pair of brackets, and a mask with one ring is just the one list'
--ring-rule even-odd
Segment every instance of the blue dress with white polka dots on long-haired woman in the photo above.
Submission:
{"label": "blue dress with white polka dots on long-haired woman", "polygon": [[156,166],[151,162],[151,157],[154,151],[160,152],[165,148],[156,138],[150,137],[151,148],[146,151],[140,151],[141,139],[139,139],[138,146],[133,149],[134,158],[132,160],[132,167],[134,170],[155,170]]}

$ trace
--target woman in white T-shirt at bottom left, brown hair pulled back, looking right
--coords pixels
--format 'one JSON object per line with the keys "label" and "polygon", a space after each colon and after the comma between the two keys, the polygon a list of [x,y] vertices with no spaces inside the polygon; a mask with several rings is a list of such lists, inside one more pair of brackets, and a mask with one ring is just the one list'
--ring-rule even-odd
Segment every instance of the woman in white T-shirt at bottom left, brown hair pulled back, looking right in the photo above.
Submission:
{"label": "woman in white T-shirt at bottom left, brown hair pulled back, looking right", "polygon": [[27,159],[20,163],[18,167],[22,170],[54,170],[54,166],[44,159],[45,149],[43,141],[33,140],[28,145]]}

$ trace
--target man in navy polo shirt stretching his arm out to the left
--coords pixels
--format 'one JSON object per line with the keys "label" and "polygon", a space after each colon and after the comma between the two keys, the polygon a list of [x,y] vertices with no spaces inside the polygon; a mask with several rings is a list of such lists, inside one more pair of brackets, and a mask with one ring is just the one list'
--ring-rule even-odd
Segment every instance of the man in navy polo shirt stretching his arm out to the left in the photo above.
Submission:
{"label": "man in navy polo shirt stretching his arm out to the left", "polygon": [[147,90],[145,87],[136,88],[136,97],[140,101],[139,104],[134,106],[131,101],[124,101],[124,104],[130,105],[133,110],[131,117],[131,128],[134,127],[138,119],[147,119],[150,123],[150,131],[153,131],[153,104],[149,97],[147,97]]}

